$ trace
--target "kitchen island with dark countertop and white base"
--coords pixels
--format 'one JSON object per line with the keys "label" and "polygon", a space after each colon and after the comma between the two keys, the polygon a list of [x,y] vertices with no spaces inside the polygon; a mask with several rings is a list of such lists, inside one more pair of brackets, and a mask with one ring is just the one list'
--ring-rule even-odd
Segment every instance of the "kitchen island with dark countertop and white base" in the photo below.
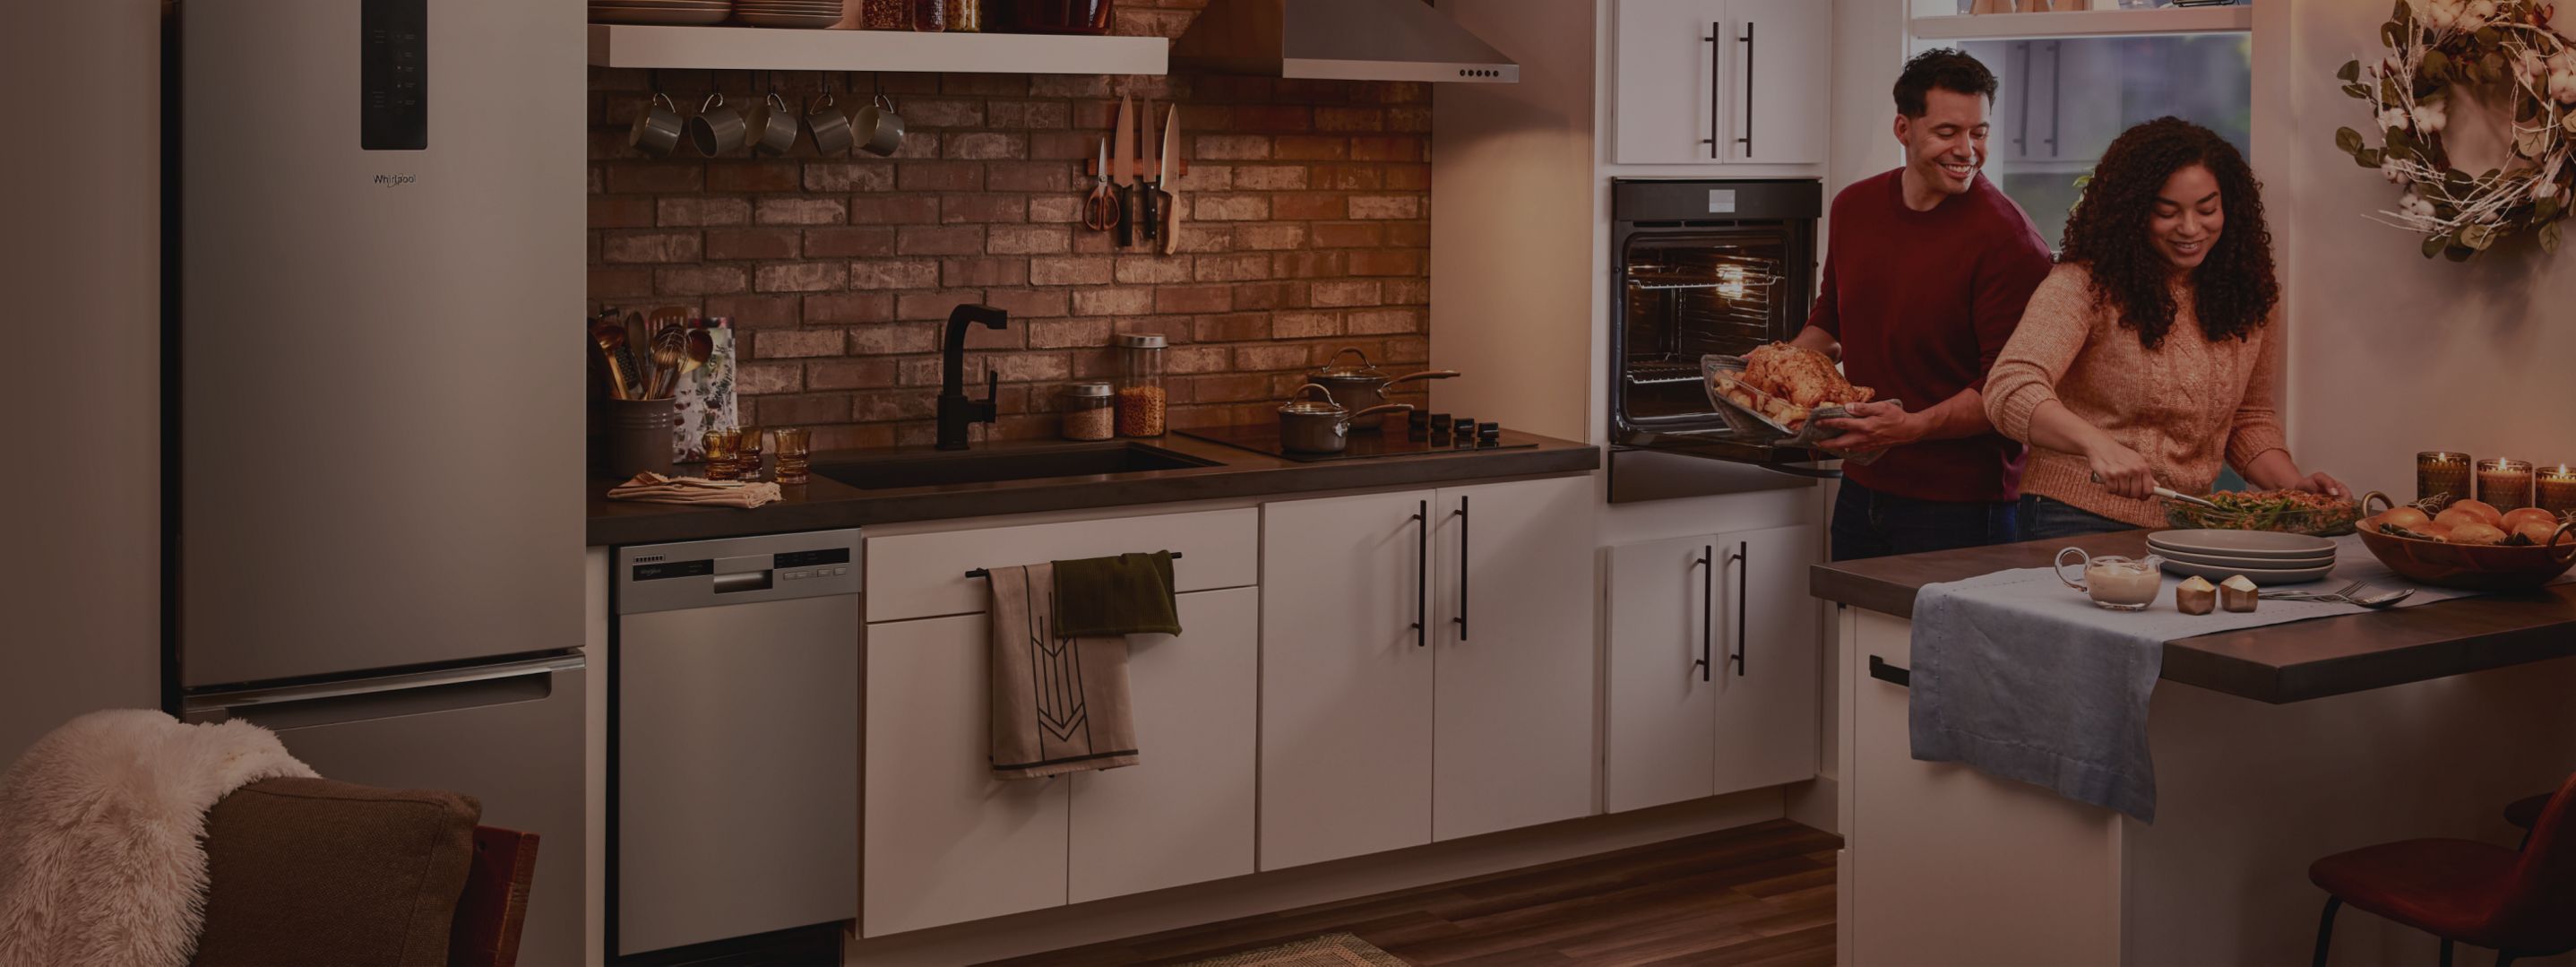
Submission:
{"label": "kitchen island with dark countertop and white base", "polygon": [[[1914,593],[2045,567],[2066,544],[2136,557],[2146,531],[1814,570],[1839,606],[1839,962],[2306,962],[2313,859],[2416,835],[2514,843],[2501,807],[2576,768],[2576,585],[2166,642],[2154,825],[1914,761]],[[2336,921],[2334,962],[2432,959],[2427,933]]]}

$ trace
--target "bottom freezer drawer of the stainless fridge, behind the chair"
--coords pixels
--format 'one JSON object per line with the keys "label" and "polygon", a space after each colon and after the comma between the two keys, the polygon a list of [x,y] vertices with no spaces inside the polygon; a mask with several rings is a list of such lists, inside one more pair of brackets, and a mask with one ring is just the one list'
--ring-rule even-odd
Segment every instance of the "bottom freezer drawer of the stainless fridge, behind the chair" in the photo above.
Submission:
{"label": "bottom freezer drawer of the stainless fridge, behind the chair", "polygon": [[582,962],[582,655],[191,696],[188,722],[278,732],[325,779],[482,799],[538,835],[520,964]]}

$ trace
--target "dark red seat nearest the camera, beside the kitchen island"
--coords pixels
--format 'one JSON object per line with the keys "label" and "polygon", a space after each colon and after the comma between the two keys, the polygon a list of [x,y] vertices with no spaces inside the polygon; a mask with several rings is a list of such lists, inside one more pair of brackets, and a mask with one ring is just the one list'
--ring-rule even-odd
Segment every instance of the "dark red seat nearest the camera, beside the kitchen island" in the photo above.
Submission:
{"label": "dark red seat nearest the camera, beside the kitchen island", "polygon": [[2519,851],[2452,838],[2396,841],[2318,859],[2308,882],[2326,890],[2316,967],[2326,967],[2334,910],[2344,903],[2442,939],[2445,967],[2452,941],[2494,949],[2496,967],[2563,954],[2576,949],[2576,776],[2543,805]]}

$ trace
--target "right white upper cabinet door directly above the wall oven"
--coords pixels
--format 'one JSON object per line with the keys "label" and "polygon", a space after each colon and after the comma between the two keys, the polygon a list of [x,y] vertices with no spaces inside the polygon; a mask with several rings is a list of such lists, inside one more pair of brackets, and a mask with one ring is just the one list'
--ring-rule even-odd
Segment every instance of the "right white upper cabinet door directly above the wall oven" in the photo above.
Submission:
{"label": "right white upper cabinet door directly above the wall oven", "polygon": [[1726,160],[1824,162],[1834,83],[1834,5],[1731,0],[1726,5]]}

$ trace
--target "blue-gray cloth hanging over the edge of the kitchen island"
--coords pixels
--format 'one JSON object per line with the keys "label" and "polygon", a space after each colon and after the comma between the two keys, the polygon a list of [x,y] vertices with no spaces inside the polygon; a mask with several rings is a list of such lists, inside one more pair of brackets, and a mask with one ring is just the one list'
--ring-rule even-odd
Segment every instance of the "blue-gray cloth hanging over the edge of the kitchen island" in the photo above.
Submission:
{"label": "blue-gray cloth hanging over the edge of the kitchen island", "polygon": [[[2336,539],[2329,580],[2416,588],[2403,606],[2465,598],[2393,575],[2357,536]],[[2146,611],[2105,611],[2048,567],[1924,585],[1914,593],[1914,758],[1960,761],[1999,779],[2156,820],[2156,763],[2146,704],[2164,673],[2164,642],[2262,624],[2360,614],[2347,603],[2264,601],[2254,614],[2174,611],[2174,585]]]}

